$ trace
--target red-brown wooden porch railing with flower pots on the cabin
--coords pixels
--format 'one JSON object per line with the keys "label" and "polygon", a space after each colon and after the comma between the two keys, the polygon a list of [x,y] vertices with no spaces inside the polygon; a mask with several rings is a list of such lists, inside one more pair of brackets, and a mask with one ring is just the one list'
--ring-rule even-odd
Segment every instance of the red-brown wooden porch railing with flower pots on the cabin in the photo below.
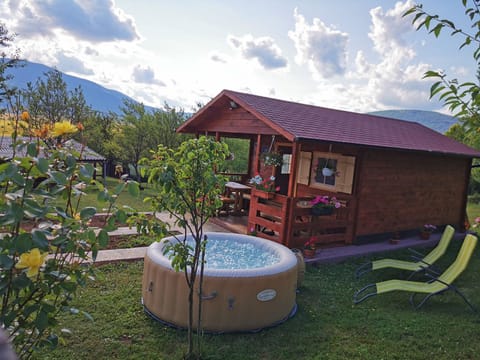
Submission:
{"label": "red-brown wooden porch railing with flower pots on the cabin", "polygon": [[319,246],[345,244],[352,241],[353,199],[337,196],[342,207],[332,215],[314,216],[311,214],[311,197],[288,198],[274,194],[265,199],[252,191],[248,231],[257,236],[282,243],[290,248],[301,248],[312,236]]}

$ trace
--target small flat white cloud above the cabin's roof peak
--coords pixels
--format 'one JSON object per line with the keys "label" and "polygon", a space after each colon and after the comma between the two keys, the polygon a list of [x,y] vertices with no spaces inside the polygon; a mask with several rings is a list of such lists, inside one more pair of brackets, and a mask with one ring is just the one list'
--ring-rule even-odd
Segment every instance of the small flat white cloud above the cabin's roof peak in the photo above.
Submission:
{"label": "small flat white cloud above the cabin's roof peak", "polygon": [[230,35],[228,42],[245,59],[257,60],[264,69],[286,68],[288,65],[287,59],[282,56],[282,51],[271,37],[254,38],[248,34],[240,38]]}

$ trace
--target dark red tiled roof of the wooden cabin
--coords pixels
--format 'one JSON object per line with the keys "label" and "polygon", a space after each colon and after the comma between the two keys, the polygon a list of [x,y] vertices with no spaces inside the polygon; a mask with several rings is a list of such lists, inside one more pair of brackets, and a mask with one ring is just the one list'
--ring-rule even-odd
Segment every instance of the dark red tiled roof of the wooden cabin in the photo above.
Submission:
{"label": "dark red tiled roof of the wooden cabin", "polygon": [[291,140],[309,139],[480,157],[480,151],[416,122],[333,110],[231,90],[223,90],[215,99],[221,96],[234,100],[272,127],[280,127]]}

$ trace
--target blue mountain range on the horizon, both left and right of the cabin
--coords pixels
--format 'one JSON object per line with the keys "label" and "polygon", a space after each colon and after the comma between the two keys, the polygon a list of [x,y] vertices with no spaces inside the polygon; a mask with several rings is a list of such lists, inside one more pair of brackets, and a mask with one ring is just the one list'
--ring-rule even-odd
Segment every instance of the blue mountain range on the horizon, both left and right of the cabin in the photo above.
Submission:
{"label": "blue mountain range on the horizon, both left and right of the cabin", "polygon": [[[30,61],[24,61],[23,63],[25,64],[23,67],[10,68],[7,70],[7,74],[13,75],[13,79],[9,80],[10,85],[20,89],[26,88],[28,82],[34,83],[38,78],[45,78],[45,73],[54,70],[46,65]],[[119,91],[107,89],[93,81],[64,73],[62,73],[62,77],[67,84],[68,90],[73,90],[75,87],[81,86],[87,104],[100,112],[112,111],[120,114],[123,100],[125,98],[134,100]],[[155,110],[155,108],[149,106],[145,107],[150,110]],[[457,122],[457,119],[452,116],[424,110],[385,110],[374,111],[369,114],[418,122],[442,134]]]}

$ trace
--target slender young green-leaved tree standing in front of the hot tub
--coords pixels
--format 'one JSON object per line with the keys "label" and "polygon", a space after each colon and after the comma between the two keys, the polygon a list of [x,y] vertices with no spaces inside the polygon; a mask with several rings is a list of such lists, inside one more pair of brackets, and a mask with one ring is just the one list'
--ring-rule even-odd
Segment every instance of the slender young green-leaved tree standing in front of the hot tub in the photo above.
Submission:
{"label": "slender young green-leaved tree standing in front of the hot tub", "polygon": [[[159,146],[151,160],[145,159],[148,181],[158,191],[149,199],[153,209],[168,212],[175,224],[184,229],[183,236],[175,236],[165,245],[165,250],[172,267],[185,274],[189,289],[188,352],[185,359],[201,358],[202,283],[208,241],[203,226],[222,205],[220,195],[227,179],[216,173],[215,168],[229,153],[226,144],[202,136],[185,141],[177,150]],[[196,348],[193,342],[194,297],[198,299]]]}

